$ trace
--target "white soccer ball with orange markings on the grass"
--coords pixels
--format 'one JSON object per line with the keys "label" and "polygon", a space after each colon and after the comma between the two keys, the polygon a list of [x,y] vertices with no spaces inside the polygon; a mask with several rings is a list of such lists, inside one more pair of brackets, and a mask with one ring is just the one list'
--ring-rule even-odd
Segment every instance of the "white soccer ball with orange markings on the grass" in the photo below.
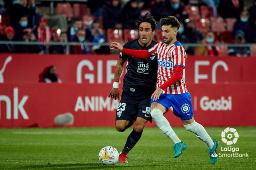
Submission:
{"label": "white soccer ball with orange markings on the grass", "polygon": [[112,146],[105,146],[100,150],[99,161],[103,165],[115,165],[118,162],[119,153]]}

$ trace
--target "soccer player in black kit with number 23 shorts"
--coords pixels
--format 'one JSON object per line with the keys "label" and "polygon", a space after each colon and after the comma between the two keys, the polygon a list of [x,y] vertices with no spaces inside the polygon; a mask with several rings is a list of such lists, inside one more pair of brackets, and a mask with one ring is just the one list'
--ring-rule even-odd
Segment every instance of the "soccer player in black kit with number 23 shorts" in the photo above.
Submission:
{"label": "soccer player in black kit with number 23 shorts", "polygon": [[[156,44],[152,40],[156,29],[156,21],[150,13],[147,13],[138,18],[137,25],[139,38],[127,42],[124,47],[143,50],[152,48]],[[128,60],[127,73],[123,80],[121,101],[116,110],[116,130],[123,132],[134,122],[135,125],[119,155],[119,162],[124,163],[127,163],[127,154],[140,139],[147,121],[152,122],[149,107],[150,94],[156,90],[157,80],[157,57],[140,59],[120,53],[119,60],[116,63],[113,88],[109,97],[119,99],[118,82],[126,60]]]}

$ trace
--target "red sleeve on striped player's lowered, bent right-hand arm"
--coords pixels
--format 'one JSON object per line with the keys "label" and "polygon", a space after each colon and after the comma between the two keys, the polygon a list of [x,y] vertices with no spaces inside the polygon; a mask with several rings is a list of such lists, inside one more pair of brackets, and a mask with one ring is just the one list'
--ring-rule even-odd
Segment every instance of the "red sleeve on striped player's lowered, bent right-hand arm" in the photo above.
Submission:
{"label": "red sleeve on striped player's lowered, bent right-hand arm", "polygon": [[178,82],[182,78],[182,75],[183,75],[183,66],[175,66],[174,74],[159,88],[161,88],[162,90],[165,90],[167,87],[170,87],[174,83]]}

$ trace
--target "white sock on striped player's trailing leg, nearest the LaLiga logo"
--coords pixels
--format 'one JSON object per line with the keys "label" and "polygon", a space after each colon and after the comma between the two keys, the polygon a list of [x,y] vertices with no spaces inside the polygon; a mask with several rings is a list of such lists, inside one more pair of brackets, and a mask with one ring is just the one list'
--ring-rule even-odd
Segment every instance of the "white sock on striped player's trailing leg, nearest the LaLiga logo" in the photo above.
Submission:
{"label": "white sock on striped player's trailing leg, nearest the LaLiga logo", "polygon": [[206,132],[204,127],[197,123],[193,122],[191,124],[183,125],[188,131],[193,132],[199,139],[204,141],[209,149],[213,148],[214,143],[209,134]]}

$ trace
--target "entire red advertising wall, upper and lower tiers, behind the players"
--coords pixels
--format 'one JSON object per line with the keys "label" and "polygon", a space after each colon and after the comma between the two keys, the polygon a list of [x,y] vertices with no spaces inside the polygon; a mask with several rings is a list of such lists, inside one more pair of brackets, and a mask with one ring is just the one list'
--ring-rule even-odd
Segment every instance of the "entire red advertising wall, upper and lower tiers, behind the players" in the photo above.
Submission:
{"label": "entire red advertising wall, upper and lower tiers, behind the players", "polygon": [[[72,126],[114,126],[119,101],[108,98],[117,55],[0,54],[0,127],[54,127],[71,113]],[[195,120],[204,126],[256,126],[254,58],[190,57],[186,81]],[[5,63],[5,64],[4,64]],[[38,83],[55,65],[63,83]],[[172,126],[178,117],[165,114]],[[156,126],[153,122],[147,126]]]}

